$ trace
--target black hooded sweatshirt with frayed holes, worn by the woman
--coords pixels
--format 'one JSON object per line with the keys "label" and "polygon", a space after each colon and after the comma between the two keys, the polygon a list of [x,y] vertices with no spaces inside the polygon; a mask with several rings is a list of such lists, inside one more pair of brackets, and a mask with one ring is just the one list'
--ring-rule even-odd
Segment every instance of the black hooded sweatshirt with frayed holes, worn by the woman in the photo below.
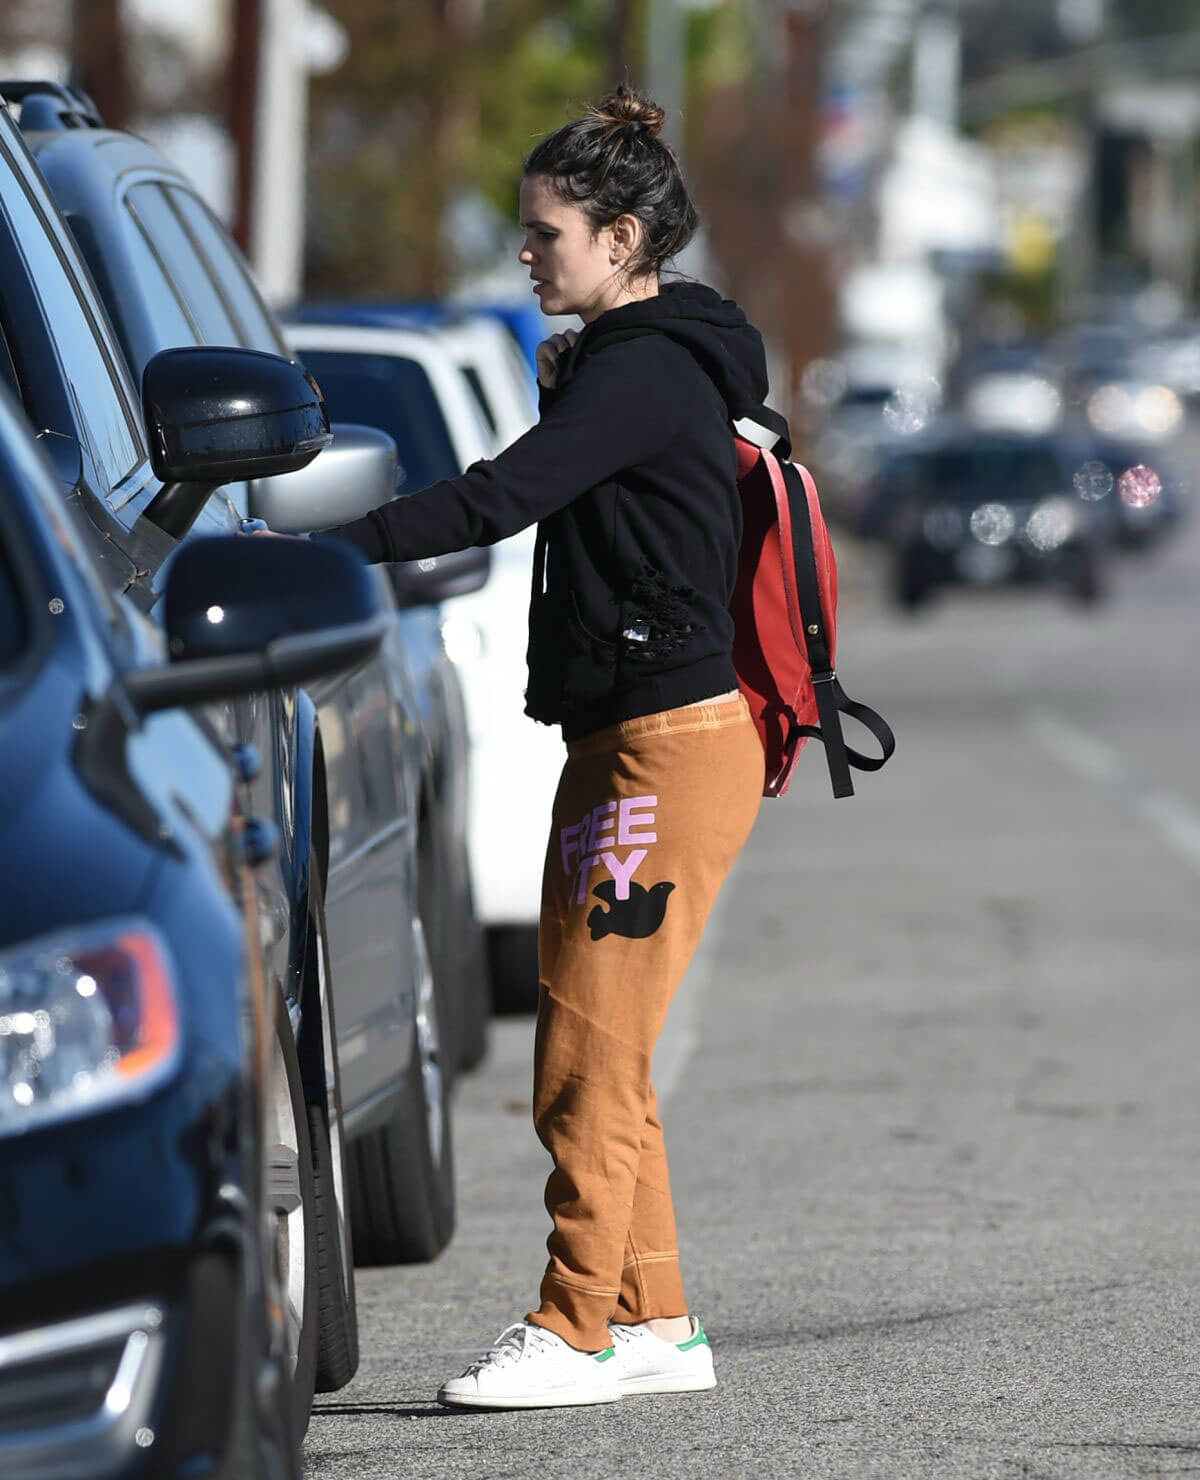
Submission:
{"label": "black hooded sweatshirt with frayed holes, worn by the woman", "polygon": [[587,324],[537,426],[460,478],[328,533],[371,561],[539,522],[527,713],[570,740],[734,688],[741,505],[729,422],[766,395],[762,337],[698,283]]}

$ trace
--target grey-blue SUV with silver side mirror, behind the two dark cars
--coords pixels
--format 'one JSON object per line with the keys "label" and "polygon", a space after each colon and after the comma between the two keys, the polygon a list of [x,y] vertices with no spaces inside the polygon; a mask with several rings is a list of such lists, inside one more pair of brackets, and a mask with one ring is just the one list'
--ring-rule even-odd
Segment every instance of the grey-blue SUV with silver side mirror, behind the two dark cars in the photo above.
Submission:
{"label": "grey-blue SUV with silver side mirror, behind the two dark cars", "polygon": [[[33,81],[0,83],[0,95],[19,102],[22,136],[135,382],[169,346],[280,352],[278,320],[185,175],[145,141],[105,129],[81,95]],[[363,485],[370,451],[363,437],[377,434],[340,426],[334,434],[303,475],[269,485],[231,480],[212,506],[289,530],[320,522],[318,506],[328,524],[360,512],[355,500],[391,497],[394,462],[386,487]],[[315,491],[309,474],[323,480]],[[308,497],[296,496],[297,477],[308,480]],[[305,522],[305,515],[314,517]],[[157,558],[138,556],[151,585]],[[337,1006],[334,1073],[358,1262],[432,1258],[454,1227],[448,1091],[454,1073],[484,1054],[490,1003],[466,854],[466,724],[434,602],[479,585],[487,558],[476,551],[422,562],[434,568],[397,570],[394,583],[377,570],[397,608],[380,660],[357,679],[314,685],[312,704],[300,694],[294,712],[286,696],[280,702],[277,731],[289,737],[297,817],[291,878],[315,875],[323,891],[315,928],[328,944]],[[277,821],[287,833],[286,808]],[[291,937],[302,940],[305,901],[293,898]],[[296,953],[294,944],[280,947],[281,981]],[[426,975],[432,1011],[420,1003]],[[318,1372],[320,1385],[333,1379]]]}

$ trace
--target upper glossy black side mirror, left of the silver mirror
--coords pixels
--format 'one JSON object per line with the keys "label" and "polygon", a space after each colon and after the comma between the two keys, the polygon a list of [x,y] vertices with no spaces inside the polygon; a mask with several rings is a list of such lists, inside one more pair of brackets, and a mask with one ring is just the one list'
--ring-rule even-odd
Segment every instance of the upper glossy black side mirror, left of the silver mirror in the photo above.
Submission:
{"label": "upper glossy black side mirror, left of the silver mirror", "polygon": [[306,466],[330,443],[317,382],[257,349],[163,349],[142,373],[142,413],[164,487],[146,518],[181,539],[213,488]]}

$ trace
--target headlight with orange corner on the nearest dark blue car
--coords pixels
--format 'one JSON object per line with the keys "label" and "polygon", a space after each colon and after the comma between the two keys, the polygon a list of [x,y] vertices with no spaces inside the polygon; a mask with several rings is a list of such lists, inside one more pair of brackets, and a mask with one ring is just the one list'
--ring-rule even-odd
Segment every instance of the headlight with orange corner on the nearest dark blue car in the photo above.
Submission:
{"label": "headlight with orange corner on the nearest dark blue car", "polygon": [[145,921],[0,955],[0,1135],[141,1098],[175,1072],[179,1005]]}

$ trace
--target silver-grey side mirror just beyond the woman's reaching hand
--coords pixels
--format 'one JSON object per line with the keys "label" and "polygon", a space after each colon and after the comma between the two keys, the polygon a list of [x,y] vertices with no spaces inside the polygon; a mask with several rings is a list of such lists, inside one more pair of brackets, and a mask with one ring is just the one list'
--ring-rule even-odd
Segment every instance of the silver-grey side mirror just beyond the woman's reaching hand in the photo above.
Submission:
{"label": "silver-grey side mirror just beyond the woman's reaching hand", "polygon": [[377,509],[397,493],[397,444],[376,426],[334,422],[330,445],[305,468],[255,478],[250,514],[281,534],[326,530]]}

